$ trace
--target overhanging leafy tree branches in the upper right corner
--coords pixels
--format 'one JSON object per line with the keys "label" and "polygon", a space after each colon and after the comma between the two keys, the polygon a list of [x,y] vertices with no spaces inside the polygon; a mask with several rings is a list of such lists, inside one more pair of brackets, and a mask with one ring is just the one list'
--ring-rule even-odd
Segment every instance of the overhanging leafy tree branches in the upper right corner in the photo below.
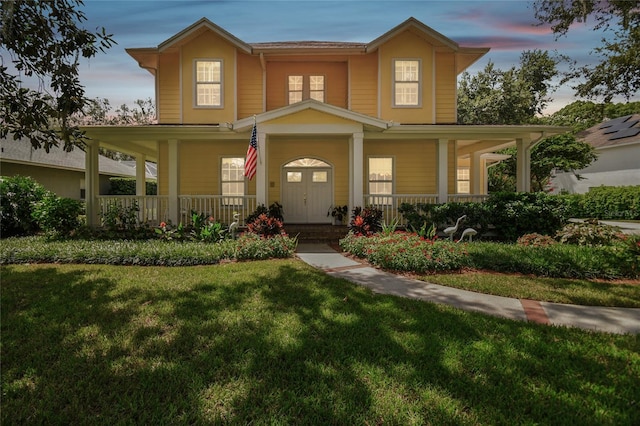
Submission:
{"label": "overhanging leafy tree branches in the upper right corner", "polygon": [[574,23],[594,23],[604,36],[593,53],[595,65],[574,66],[567,80],[580,79],[576,95],[610,102],[629,100],[640,89],[640,2],[637,0],[535,0],[535,17],[550,24],[556,39]]}

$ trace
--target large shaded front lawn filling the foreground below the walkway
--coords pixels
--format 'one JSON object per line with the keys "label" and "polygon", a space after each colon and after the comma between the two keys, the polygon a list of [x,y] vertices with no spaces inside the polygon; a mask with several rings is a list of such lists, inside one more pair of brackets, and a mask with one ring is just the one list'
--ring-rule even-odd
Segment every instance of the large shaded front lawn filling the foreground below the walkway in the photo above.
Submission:
{"label": "large shaded front lawn filling the foreground below the walkway", "polygon": [[2,424],[640,423],[640,336],[375,295],[296,260],[2,266]]}

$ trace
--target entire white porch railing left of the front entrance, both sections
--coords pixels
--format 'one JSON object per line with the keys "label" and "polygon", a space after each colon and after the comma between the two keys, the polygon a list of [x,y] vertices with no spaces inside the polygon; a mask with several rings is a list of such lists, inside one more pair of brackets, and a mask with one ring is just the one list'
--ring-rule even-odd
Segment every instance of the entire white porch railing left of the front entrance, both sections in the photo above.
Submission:
{"label": "entire white porch railing left of the front entrance, both sections", "polygon": [[[116,206],[120,209],[136,209],[138,222],[158,226],[169,222],[169,197],[166,195],[100,195],[98,212],[101,217],[107,215]],[[191,211],[204,213],[215,220],[229,225],[233,215],[238,213],[242,221],[257,207],[256,196],[227,197],[222,195],[180,195],[178,196],[178,223],[191,223]]]}

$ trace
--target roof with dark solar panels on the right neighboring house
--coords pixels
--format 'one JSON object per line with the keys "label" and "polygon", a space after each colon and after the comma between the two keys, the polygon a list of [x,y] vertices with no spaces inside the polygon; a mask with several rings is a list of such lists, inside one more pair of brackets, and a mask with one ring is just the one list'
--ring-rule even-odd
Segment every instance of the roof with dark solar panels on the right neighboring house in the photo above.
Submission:
{"label": "roof with dark solar panels on the right neighboring house", "polygon": [[596,124],[576,136],[596,149],[640,143],[640,114]]}

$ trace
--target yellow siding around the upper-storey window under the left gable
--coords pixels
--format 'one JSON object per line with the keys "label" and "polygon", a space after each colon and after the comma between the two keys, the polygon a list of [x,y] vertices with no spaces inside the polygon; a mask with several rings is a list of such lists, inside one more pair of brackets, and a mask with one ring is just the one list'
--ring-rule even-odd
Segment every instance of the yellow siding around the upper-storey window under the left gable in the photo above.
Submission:
{"label": "yellow siding around the upper-storey window under the left gable", "polygon": [[[235,120],[236,48],[205,32],[182,48],[182,108],[184,124],[216,124]],[[223,108],[195,108],[195,59],[222,59]]]}

